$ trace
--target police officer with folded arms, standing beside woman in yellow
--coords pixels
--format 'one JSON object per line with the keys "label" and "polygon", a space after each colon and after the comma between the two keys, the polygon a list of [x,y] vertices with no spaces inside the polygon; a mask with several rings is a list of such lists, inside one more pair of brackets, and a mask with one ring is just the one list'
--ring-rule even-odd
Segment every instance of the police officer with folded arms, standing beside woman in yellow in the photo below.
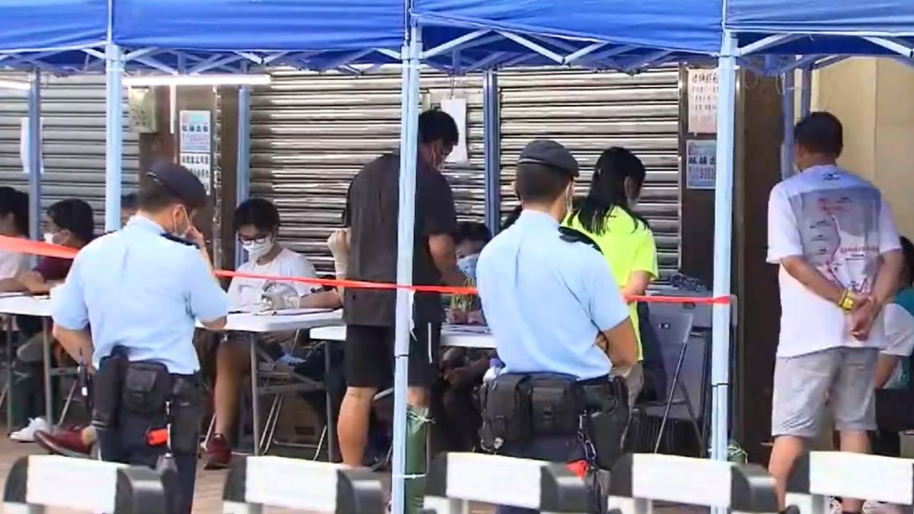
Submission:
{"label": "police officer with folded arms, standing beside woman in yellow", "polygon": [[[498,357],[505,364],[495,387],[489,386],[490,392],[485,395],[484,411],[493,412],[484,412],[484,443],[487,430],[502,428],[495,426],[498,423],[487,426],[486,420],[511,419],[511,413],[499,412],[505,409],[526,412],[502,404],[523,396],[524,386],[513,384],[526,380],[533,391],[528,400],[533,404],[534,418],[529,423],[533,434],[511,440],[518,438],[516,431],[502,435],[490,431],[494,449],[505,455],[552,461],[573,462],[587,457],[596,466],[598,459],[587,455],[579,436],[590,438],[597,454],[617,455],[622,434],[615,435],[609,442],[614,448],[607,451],[605,441],[594,441],[594,432],[611,431],[596,426],[593,432],[579,434],[578,427],[590,426],[590,420],[598,425],[606,419],[627,423],[627,395],[618,390],[619,381],[611,381],[609,374],[612,366],[632,365],[638,348],[628,307],[602,255],[586,236],[559,229],[559,222],[569,212],[578,176],[578,163],[564,146],[547,140],[526,145],[517,162],[515,182],[523,212],[511,228],[486,245],[476,264],[476,285],[485,319],[492,329]],[[553,379],[556,376],[560,379]],[[494,392],[513,387],[521,392],[505,396],[508,400],[503,401]],[[549,391],[537,392],[540,390]],[[565,398],[562,391],[576,391],[568,394],[605,402],[586,402],[581,412],[565,423],[569,431],[562,433],[556,428],[565,426],[557,421],[561,402],[538,403],[544,398]],[[615,402],[619,398],[622,402]],[[551,412],[551,417],[546,422],[538,420],[537,412]],[[600,414],[605,415],[600,418]],[[537,433],[537,427],[547,425],[552,428]]]}

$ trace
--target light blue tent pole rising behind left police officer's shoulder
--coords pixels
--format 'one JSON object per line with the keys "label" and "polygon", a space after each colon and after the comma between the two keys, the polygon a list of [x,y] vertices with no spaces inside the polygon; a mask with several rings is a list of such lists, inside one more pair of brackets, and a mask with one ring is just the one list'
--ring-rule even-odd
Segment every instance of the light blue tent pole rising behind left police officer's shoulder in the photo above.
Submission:
{"label": "light blue tent pole rising behind left police officer's shoulder", "polygon": [[105,47],[105,231],[121,228],[123,160],[123,54]]}

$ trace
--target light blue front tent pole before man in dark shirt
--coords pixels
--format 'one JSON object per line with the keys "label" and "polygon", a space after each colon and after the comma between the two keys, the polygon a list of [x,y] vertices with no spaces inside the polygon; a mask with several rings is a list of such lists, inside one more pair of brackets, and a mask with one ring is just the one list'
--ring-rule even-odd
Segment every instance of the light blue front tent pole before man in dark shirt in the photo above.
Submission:
{"label": "light blue front tent pole before man in dark shirt", "polygon": [[[399,220],[397,224],[397,283],[412,284],[412,241],[416,221],[416,153],[419,142],[419,51],[420,29],[410,27],[403,48],[403,84],[400,108]],[[406,512],[407,371],[409,332],[412,328],[412,293],[397,290],[394,344],[394,434],[391,510]]]}

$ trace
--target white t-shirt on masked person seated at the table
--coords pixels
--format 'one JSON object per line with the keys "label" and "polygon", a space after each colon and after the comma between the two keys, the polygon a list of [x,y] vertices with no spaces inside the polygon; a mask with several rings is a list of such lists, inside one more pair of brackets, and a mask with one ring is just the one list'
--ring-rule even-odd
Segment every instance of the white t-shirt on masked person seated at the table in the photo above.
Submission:
{"label": "white t-shirt on masked person seated at the table", "polygon": [[[241,273],[256,273],[272,276],[299,276],[314,278],[317,272],[314,264],[301,253],[283,248],[270,262],[258,264],[248,261],[238,269]],[[232,311],[256,312],[260,310],[260,298],[264,293],[288,292],[304,296],[320,289],[320,285],[301,282],[278,282],[272,280],[235,277],[228,285],[228,305]]]}

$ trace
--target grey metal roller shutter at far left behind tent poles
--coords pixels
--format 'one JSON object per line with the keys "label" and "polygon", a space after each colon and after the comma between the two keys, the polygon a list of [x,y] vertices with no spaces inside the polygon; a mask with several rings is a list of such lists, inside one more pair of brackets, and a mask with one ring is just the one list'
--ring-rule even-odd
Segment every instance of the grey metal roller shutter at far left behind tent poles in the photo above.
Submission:
{"label": "grey metal roller shutter at far left behind tent poles", "polygon": [[[101,76],[43,77],[44,118],[42,207],[81,198],[95,210],[96,231],[104,230],[105,81]],[[126,102],[126,91],[124,91]],[[126,104],[124,112],[127,112]],[[27,190],[19,157],[20,120],[28,115],[26,94],[0,89],[0,184]],[[135,190],[139,148],[124,118],[123,188]]]}

